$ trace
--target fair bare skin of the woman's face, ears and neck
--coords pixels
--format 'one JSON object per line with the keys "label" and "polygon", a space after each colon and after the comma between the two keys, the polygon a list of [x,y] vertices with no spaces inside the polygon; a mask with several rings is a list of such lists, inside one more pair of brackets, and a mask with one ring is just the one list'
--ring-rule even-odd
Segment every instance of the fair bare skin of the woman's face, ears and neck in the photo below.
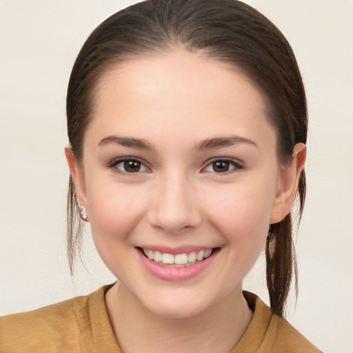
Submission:
{"label": "fair bare skin of the woman's face, ears and neck", "polygon": [[[252,319],[243,277],[269,225],[290,212],[305,161],[298,144],[292,163],[279,163],[265,112],[245,74],[200,53],[137,57],[99,79],[83,160],[65,152],[94,243],[120,282],[106,304],[123,352],[230,352],[241,339]],[[201,148],[229,137],[241,141]],[[113,165],[123,157],[141,161],[140,171]],[[235,164],[214,171],[222,159]],[[145,270],[137,246],[219,252],[191,279],[165,281]]]}

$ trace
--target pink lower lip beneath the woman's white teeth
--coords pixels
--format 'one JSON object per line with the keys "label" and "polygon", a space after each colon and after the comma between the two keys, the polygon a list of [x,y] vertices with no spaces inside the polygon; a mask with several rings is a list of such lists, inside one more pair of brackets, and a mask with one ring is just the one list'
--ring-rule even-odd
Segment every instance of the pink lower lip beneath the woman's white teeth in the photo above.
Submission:
{"label": "pink lower lip beneath the woman's white teeth", "polygon": [[150,272],[153,276],[163,279],[164,281],[185,281],[186,279],[192,279],[192,277],[197,276],[203,272],[203,270],[208,268],[218,252],[218,250],[212,252],[207,259],[196,262],[194,265],[185,266],[183,268],[172,268],[155,263],[153,260],[150,260],[144,256],[142,252],[137,249],[137,254],[139,255],[145,269],[148,270],[148,272]]}

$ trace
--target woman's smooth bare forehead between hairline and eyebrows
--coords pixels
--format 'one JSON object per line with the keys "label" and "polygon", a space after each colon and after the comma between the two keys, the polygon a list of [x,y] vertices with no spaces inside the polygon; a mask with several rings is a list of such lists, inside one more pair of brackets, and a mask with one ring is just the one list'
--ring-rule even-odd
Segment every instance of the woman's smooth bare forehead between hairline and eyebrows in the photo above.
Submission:
{"label": "woman's smooth bare forehead between hairline and eyebrows", "polygon": [[269,125],[263,95],[246,74],[185,50],[112,65],[97,81],[92,113],[101,134],[249,134]]}

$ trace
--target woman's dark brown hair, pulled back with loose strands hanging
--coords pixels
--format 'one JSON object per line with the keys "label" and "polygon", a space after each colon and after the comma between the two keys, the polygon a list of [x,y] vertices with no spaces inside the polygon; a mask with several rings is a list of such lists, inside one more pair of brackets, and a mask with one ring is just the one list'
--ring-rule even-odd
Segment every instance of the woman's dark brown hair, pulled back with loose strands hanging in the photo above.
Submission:
{"label": "woman's dark brown hair, pulled back with loose strands hanging", "polygon": [[[268,101],[268,119],[276,129],[277,153],[288,163],[296,143],[306,143],[307,107],[303,81],[290,44],[260,12],[236,0],[148,0],[103,21],[79,52],[68,85],[68,137],[77,163],[90,122],[94,86],[102,72],[119,61],[175,47],[201,50],[248,74]],[[299,220],[305,199],[305,172],[299,188]],[[81,219],[70,178],[68,257],[81,247]],[[297,290],[292,216],[272,225],[266,243],[270,305],[283,315],[292,279]]]}

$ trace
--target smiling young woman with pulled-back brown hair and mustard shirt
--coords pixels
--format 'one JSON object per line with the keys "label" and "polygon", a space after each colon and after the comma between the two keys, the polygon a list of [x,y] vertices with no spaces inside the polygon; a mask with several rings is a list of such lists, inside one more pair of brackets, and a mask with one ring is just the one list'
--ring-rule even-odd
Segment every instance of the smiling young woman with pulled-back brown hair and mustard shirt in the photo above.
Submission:
{"label": "smiling young woman with pulled-back brown hair and mustard shirt", "polygon": [[[117,283],[1,319],[1,352],[319,352],[283,313],[305,199],[290,45],[235,0],[149,0],[70,77],[68,254],[82,221]],[[271,308],[242,281],[265,247]]]}

